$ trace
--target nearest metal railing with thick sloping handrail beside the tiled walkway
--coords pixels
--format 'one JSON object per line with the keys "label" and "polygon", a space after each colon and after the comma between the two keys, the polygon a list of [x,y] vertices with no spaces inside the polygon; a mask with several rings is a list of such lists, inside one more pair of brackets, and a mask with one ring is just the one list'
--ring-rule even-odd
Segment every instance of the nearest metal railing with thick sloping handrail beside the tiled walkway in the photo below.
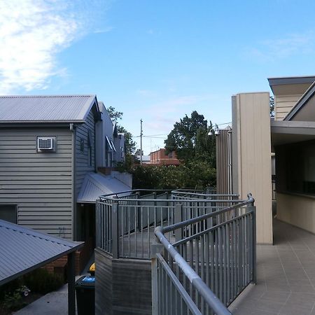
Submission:
{"label": "nearest metal railing with thick sloping handrail beside the tiled walkway", "polygon": [[[155,228],[153,315],[231,314],[228,305],[256,278],[253,202],[248,195],[214,213]],[[172,232],[174,242],[165,237]]]}

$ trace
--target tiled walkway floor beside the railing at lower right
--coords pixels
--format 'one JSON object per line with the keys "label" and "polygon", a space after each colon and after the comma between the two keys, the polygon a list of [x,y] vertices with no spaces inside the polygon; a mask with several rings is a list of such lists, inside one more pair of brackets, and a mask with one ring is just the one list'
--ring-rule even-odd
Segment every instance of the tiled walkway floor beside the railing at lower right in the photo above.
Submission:
{"label": "tiled walkway floor beside the railing at lower right", "polygon": [[274,221],[274,246],[257,247],[258,284],[235,315],[315,314],[315,235]]}

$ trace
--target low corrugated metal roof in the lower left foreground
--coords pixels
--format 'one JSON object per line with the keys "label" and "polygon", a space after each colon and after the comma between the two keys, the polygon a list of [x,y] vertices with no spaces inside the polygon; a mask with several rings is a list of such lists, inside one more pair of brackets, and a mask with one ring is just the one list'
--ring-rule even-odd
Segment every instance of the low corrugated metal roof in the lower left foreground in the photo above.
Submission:
{"label": "low corrugated metal roof in the lower left foreground", "polygon": [[0,285],[83,246],[3,220],[0,239]]}

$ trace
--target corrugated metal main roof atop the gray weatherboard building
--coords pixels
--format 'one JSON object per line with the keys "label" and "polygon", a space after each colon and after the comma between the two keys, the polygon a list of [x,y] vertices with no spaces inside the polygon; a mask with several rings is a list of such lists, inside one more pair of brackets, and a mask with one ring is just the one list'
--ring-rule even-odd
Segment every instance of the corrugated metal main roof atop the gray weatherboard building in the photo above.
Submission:
{"label": "corrugated metal main roof atop the gray weatherboard building", "polygon": [[84,120],[95,95],[0,96],[0,123]]}

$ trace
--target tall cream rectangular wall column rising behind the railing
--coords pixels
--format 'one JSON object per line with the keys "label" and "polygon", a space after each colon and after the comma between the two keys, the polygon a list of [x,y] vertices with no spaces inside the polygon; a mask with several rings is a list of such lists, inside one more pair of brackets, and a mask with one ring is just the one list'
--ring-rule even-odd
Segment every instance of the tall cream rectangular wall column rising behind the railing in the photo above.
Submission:
{"label": "tall cream rectangular wall column rising behind the railing", "polygon": [[232,97],[233,192],[257,207],[257,242],[272,244],[272,176],[269,93]]}

